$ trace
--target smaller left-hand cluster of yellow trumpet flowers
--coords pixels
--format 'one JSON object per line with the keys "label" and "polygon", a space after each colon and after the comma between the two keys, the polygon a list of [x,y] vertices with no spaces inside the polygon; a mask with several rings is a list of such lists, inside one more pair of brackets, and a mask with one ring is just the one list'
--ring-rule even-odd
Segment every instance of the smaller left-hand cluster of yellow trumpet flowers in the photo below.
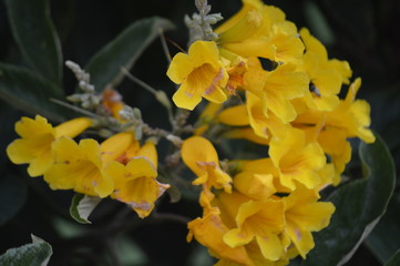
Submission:
{"label": "smaller left-hand cluster of yellow trumpet flowers", "polygon": [[53,127],[37,115],[16,124],[21,136],[7,149],[16,164],[29,164],[28,173],[43,175],[52,190],[73,190],[90,196],[111,196],[146,217],[154,202],[170,187],[156,181],[157,152],[152,142],[140,145],[132,132],[114,134],[99,144],[73,137],[93,120],[79,117]]}

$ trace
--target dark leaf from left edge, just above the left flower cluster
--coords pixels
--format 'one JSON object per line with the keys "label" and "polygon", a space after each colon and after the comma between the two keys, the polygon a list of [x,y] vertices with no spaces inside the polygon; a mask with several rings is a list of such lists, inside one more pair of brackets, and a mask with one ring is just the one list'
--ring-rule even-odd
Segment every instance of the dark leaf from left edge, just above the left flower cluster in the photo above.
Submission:
{"label": "dark leaf from left edge, just above the left flower cluster", "polygon": [[54,89],[52,83],[31,71],[0,63],[0,98],[14,108],[61,121],[60,113],[65,110],[49,100],[60,96],[59,90]]}

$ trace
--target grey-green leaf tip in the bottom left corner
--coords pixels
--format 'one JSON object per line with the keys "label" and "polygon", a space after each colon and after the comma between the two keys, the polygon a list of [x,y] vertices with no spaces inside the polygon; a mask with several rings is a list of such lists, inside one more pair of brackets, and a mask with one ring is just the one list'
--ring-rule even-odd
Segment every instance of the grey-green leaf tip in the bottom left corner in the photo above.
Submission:
{"label": "grey-green leaf tip in the bottom left corner", "polygon": [[32,244],[10,248],[0,256],[1,266],[45,266],[53,250],[49,243],[32,236]]}

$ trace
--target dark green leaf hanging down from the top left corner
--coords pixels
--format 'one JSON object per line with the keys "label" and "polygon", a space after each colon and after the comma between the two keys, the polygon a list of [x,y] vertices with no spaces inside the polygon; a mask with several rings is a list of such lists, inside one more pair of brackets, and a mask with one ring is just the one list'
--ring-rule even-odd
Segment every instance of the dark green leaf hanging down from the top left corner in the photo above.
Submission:
{"label": "dark green leaf hanging down from the top left corner", "polygon": [[13,37],[28,64],[61,90],[62,54],[48,0],[6,0]]}

